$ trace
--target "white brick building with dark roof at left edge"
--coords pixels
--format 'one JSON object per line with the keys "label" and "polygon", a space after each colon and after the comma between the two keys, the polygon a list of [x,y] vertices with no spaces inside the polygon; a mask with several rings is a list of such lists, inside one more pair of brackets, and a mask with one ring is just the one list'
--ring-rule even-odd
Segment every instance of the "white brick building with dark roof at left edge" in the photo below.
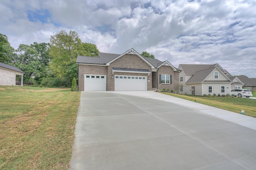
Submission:
{"label": "white brick building with dark roof at left edge", "polygon": [[[0,63],[0,85],[23,85],[24,74],[16,67]],[[16,81],[16,76],[20,76],[21,81]]]}

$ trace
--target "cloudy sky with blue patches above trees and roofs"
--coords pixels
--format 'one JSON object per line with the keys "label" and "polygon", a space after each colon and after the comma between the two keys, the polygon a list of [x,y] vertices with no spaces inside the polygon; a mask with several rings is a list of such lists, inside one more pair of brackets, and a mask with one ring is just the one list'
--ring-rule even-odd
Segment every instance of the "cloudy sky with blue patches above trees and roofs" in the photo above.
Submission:
{"label": "cloudy sky with blue patches above trees and roofs", "polygon": [[134,48],[256,77],[255,0],[1,0],[0,23],[15,49],[74,30],[100,52]]}

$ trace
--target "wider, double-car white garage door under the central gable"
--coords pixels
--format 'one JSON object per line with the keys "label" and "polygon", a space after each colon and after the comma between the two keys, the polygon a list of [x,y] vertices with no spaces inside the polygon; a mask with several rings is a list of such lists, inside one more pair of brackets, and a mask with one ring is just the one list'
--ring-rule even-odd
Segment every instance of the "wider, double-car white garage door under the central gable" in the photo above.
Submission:
{"label": "wider, double-car white garage door under the central gable", "polygon": [[115,76],[115,91],[146,91],[146,90],[147,90],[146,76],[130,76],[130,75]]}

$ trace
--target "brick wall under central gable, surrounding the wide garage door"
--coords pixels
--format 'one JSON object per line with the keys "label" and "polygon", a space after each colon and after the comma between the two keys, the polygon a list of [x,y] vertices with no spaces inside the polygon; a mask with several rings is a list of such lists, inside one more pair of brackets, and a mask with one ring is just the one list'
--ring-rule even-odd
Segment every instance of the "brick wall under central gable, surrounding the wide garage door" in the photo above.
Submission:
{"label": "brick wall under central gable, surrounding the wide garage door", "polygon": [[[120,67],[120,68],[131,68],[131,69],[148,69],[150,72],[152,71],[150,65],[148,65],[145,61],[143,61],[138,55],[135,54],[125,54],[119,59],[113,61],[108,66],[107,71],[107,91],[115,90],[115,80],[114,75],[137,75],[137,76],[146,76],[147,77],[147,90],[152,90],[152,74],[150,75],[145,73],[122,73],[122,72],[114,72],[113,78],[112,76],[112,67]],[[148,79],[150,77],[150,79]],[[150,80],[150,81],[148,81]]]}

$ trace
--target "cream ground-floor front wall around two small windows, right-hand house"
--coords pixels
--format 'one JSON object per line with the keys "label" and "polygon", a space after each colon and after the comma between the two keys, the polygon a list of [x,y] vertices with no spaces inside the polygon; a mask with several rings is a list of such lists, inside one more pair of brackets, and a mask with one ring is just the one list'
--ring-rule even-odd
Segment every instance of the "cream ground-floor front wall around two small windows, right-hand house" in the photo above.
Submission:
{"label": "cream ground-floor front wall around two small windows, right-hand house", "polygon": [[[212,93],[210,93],[211,95],[213,95],[213,93],[215,93],[216,95],[218,95],[220,93],[220,95],[226,95],[226,94],[230,94],[231,93],[231,85],[230,83],[203,83],[203,94],[208,95],[208,86],[212,86]],[[221,86],[225,86],[225,93],[221,93]]]}

